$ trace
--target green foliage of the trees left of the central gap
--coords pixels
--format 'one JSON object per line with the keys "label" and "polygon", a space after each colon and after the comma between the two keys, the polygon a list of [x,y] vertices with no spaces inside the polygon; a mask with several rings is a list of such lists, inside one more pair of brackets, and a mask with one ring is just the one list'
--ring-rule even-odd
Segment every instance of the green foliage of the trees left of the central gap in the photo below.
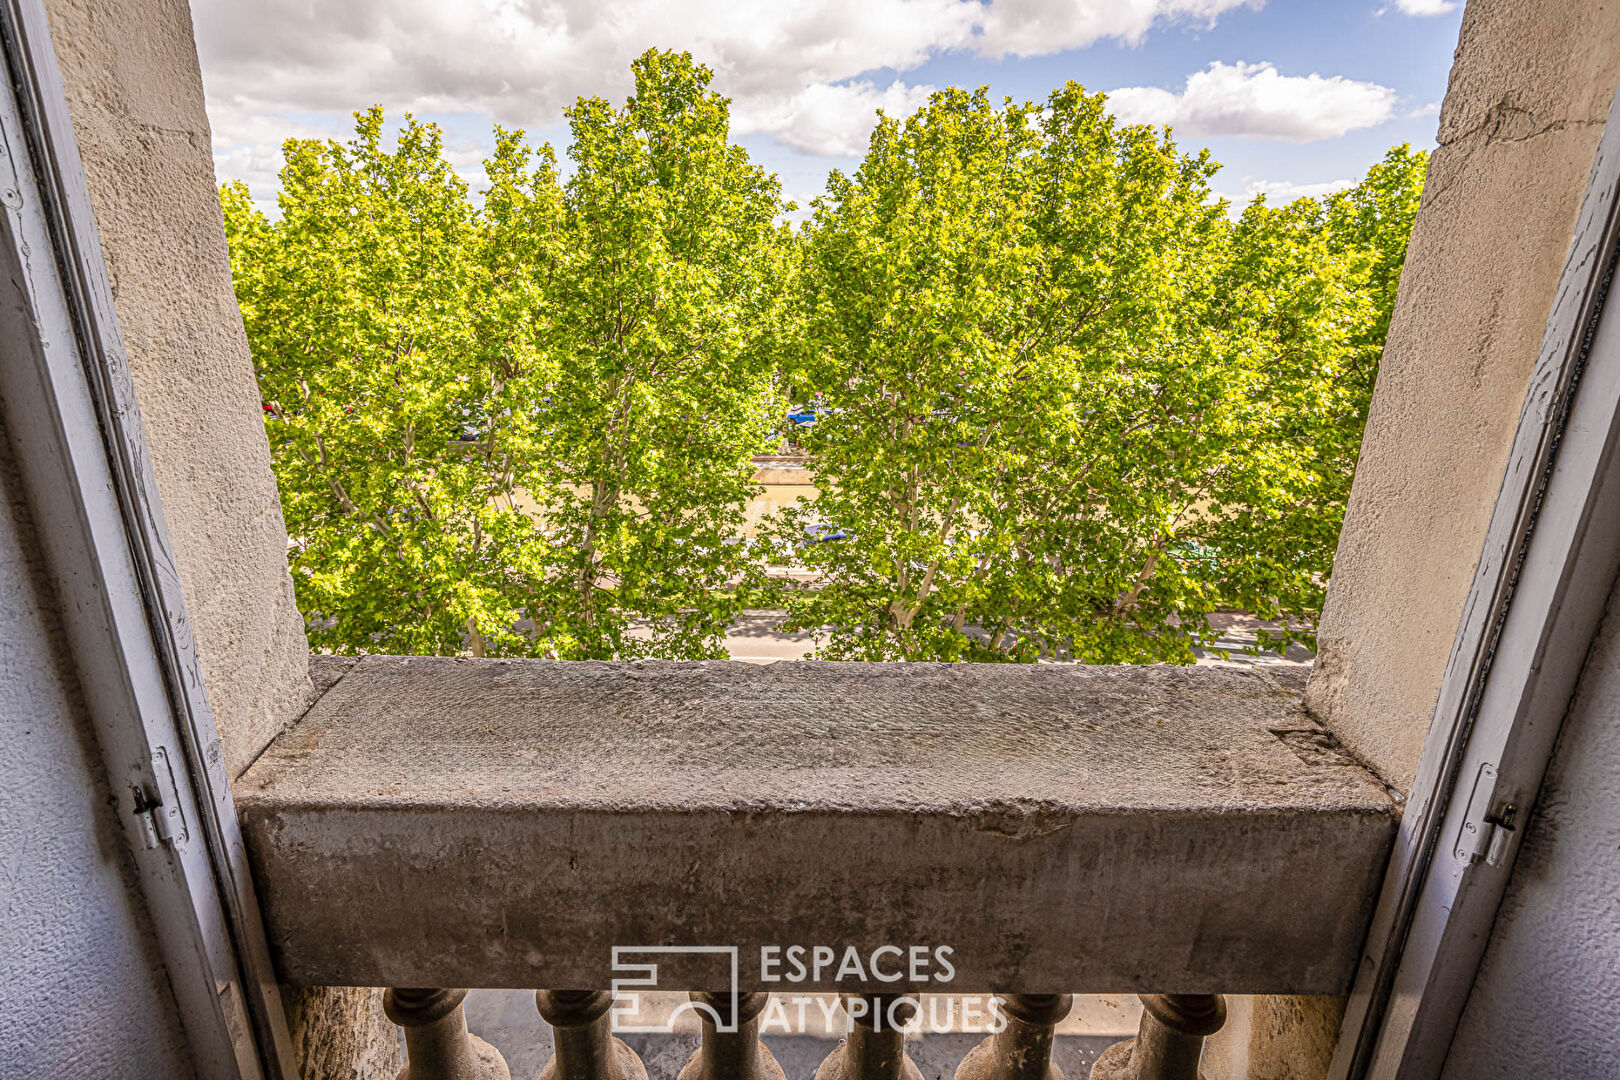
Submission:
{"label": "green foliage of the trees left of the central gap", "polygon": [[565,185],[497,131],[481,210],[377,108],[287,144],[279,222],[222,193],[314,644],[721,654],[787,233],[708,79],[648,52],[582,100]]}

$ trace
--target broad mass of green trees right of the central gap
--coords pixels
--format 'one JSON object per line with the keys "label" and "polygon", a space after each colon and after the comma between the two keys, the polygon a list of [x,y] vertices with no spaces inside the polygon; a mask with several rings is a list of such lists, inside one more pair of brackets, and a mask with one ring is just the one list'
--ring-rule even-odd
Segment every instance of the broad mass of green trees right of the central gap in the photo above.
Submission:
{"label": "broad mass of green trees right of the central gap", "polygon": [[1074,84],[881,121],[802,238],[821,497],[782,534],[847,538],[799,546],[825,585],[789,625],[826,656],[1128,662],[1189,661],[1217,607],[1309,623],[1398,274],[1367,238],[1403,243],[1413,159],[1233,223],[1207,154]]}

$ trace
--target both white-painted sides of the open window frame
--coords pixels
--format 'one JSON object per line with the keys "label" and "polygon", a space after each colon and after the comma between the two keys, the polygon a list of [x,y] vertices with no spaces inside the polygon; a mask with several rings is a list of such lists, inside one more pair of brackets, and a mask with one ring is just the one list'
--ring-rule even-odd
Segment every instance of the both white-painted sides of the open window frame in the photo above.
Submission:
{"label": "both white-painted sides of the open window frame", "polygon": [[[11,74],[0,96],[0,259],[23,285],[21,303],[0,311],[0,345],[15,358],[0,364],[0,408],[199,1072],[292,1080],[40,0],[0,0],[0,45]],[[1497,800],[1511,795],[1528,813],[1602,614],[1620,560],[1620,325],[1599,334],[1617,261],[1612,110],[1346,1010],[1336,1080],[1443,1067],[1523,818],[1497,865],[1461,866],[1448,840],[1481,766],[1497,771]],[[154,761],[165,758],[188,839],[146,847],[133,790],[160,797]]]}

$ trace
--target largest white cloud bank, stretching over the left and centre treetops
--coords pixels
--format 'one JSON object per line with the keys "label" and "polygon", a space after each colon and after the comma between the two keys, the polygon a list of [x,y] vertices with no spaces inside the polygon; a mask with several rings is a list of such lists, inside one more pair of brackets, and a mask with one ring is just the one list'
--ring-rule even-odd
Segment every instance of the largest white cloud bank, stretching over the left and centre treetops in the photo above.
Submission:
{"label": "largest white cloud bank, stretching over the left and centre treetops", "polygon": [[910,110],[910,71],[949,52],[1050,55],[1139,42],[1262,0],[191,0],[220,176],[271,183],[287,134],[348,113],[551,128],[580,96],[622,99],[648,47],[690,50],[739,131],[859,154],[873,112]]}

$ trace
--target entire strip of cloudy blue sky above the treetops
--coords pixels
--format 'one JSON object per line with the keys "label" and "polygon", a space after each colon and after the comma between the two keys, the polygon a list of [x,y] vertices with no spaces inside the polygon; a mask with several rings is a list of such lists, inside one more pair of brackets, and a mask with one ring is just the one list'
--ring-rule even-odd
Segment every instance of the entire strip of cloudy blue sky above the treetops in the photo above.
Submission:
{"label": "entire strip of cloudy blue sky above the treetops", "polygon": [[859,164],[875,110],[941,86],[1042,99],[1074,79],[1170,123],[1234,199],[1349,183],[1434,142],[1458,0],[191,0],[220,180],[274,207],[280,142],[384,105],[446,130],[475,183],[492,123],[567,144],[562,107],[614,102],[630,58],[687,49],[753,159],[807,202]]}

